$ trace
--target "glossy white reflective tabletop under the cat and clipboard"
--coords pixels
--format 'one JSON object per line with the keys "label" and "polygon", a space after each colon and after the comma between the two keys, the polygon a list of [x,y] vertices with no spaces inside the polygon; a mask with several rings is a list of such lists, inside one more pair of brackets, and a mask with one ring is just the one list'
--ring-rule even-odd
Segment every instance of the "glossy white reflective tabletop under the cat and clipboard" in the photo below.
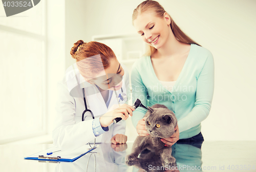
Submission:
{"label": "glossy white reflective tabletop under the cat and clipboard", "polygon": [[[96,171],[144,171],[133,166],[125,166],[124,157],[131,152],[132,145],[133,143],[127,143],[127,149],[119,153],[111,148],[111,144],[105,144],[105,147],[101,146],[101,148],[104,148],[103,152],[97,148],[99,153],[96,156]],[[46,150],[52,146],[52,144],[0,145],[0,171],[87,171],[88,154],[72,163],[45,163],[24,159],[24,157]],[[95,152],[97,152],[97,149]],[[256,171],[256,141],[204,141],[202,149],[195,148],[195,150],[199,154],[201,153],[198,160],[202,162],[201,168],[204,168],[202,171]],[[177,154],[179,153],[177,152]],[[115,156],[114,160],[113,156]],[[186,150],[185,153],[182,153],[182,156],[189,160],[191,155]],[[184,165],[185,163],[185,161],[177,162],[177,165]],[[191,165],[191,162],[189,165]],[[248,168],[249,165],[251,169],[245,170],[245,167]],[[252,169],[253,165],[254,169]],[[90,159],[88,171],[94,171],[93,156]]]}

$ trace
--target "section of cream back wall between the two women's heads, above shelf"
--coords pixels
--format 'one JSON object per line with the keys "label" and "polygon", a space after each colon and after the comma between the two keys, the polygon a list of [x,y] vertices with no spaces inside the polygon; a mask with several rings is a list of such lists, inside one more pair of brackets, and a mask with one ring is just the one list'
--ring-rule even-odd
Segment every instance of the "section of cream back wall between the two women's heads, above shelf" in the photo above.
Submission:
{"label": "section of cream back wall between the two women's heads, above shelf", "polygon": [[73,43],[92,41],[93,35],[134,33],[131,16],[140,1],[66,1],[66,67],[75,63]]}

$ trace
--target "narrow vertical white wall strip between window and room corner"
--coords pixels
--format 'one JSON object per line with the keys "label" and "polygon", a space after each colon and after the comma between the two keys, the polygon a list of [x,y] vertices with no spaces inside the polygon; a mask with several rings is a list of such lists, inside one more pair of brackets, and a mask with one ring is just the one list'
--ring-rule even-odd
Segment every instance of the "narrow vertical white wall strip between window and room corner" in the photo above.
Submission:
{"label": "narrow vertical white wall strip between window and room corner", "polygon": [[65,75],[65,3],[47,1],[47,112],[48,134],[52,134],[57,100],[57,82]]}

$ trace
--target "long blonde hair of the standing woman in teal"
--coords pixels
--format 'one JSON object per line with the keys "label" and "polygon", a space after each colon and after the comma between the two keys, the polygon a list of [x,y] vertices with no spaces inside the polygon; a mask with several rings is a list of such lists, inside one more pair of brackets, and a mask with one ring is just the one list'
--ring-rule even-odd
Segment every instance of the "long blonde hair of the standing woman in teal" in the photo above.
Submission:
{"label": "long blonde hair of the standing woman in teal", "polygon": [[[164,10],[164,8],[158,2],[152,1],[152,0],[147,0],[147,1],[142,2],[140,5],[138,5],[138,7],[136,9],[134,9],[133,17],[132,17],[133,22],[138,17],[139,14],[141,14],[145,11],[154,12],[156,14],[156,16],[161,17],[161,18],[163,17],[164,13],[166,12]],[[178,41],[187,43],[187,44],[193,43],[193,44],[199,45],[194,40],[189,38],[184,32],[182,32],[182,30],[177,26],[177,24],[174,22],[172,17],[170,17],[170,29],[172,29],[173,34]],[[151,56],[156,51],[156,48],[151,45],[148,45],[148,46],[149,46],[149,51],[145,55]],[[201,45],[199,45],[199,46],[201,46]]]}

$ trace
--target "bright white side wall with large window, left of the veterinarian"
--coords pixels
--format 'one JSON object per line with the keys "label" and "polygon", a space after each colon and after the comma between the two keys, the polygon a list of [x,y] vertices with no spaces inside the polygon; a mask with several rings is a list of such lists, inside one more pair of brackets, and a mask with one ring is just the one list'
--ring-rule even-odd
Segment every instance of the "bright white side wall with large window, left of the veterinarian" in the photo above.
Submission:
{"label": "bright white side wall with large window, left of the veterinarian", "polygon": [[[1,138],[0,143],[51,143],[57,81],[66,71],[65,1],[41,1],[32,9],[10,17],[5,16],[4,7],[0,5],[0,32],[1,64],[9,70],[2,68],[0,102],[8,106],[1,104],[1,119],[6,126],[1,125],[0,130],[10,136],[10,139]],[[39,41],[42,43],[39,44]],[[23,84],[4,82],[8,78]],[[10,99],[12,97],[5,88],[11,89],[14,99]],[[21,103],[26,106],[18,107]],[[37,108],[35,104],[42,108]],[[18,113],[13,113],[14,110]],[[26,135],[26,132],[29,134]]]}

